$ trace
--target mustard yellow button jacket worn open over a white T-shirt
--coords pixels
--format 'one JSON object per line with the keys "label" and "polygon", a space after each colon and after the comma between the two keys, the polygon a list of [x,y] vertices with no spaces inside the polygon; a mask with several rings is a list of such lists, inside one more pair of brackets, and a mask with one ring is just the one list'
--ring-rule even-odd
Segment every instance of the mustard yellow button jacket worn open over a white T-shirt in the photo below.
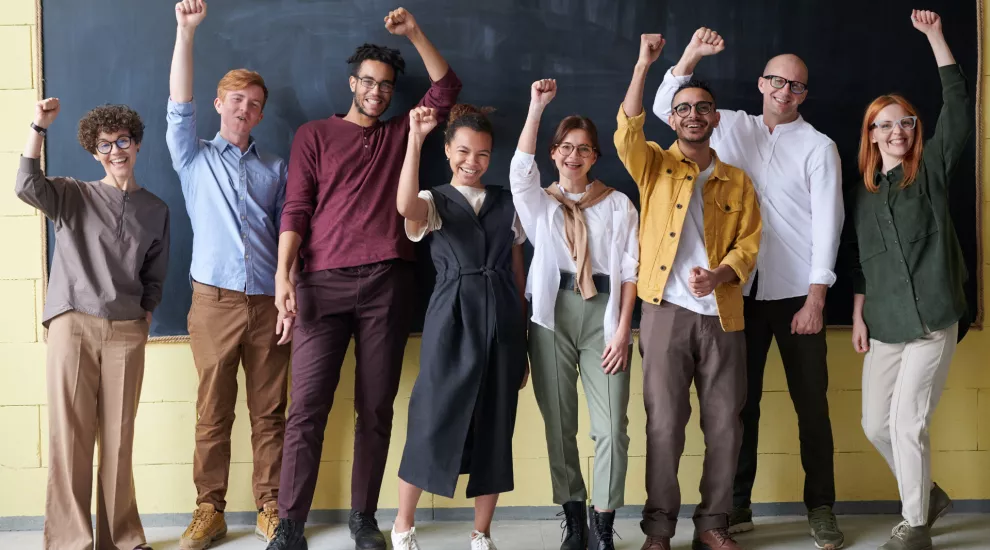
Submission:
{"label": "mustard yellow button jacket worn open over a white T-shirt", "polygon": [[[658,304],[674,263],[681,228],[698,178],[698,165],[684,157],[675,142],[663,150],[646,141],[646,111],[627,117],[619,107],[615,149],[639,187],[639,297]],[[713,151],[714,154],[714,151]],[[719,321],[726,332],[742,330],[742,284],[756,267],[763,222],[760,205],[746,172],[715,155],[715,169],[702,190],[705,199],[705,248],[709,269],[727,265],[739,281],[715,288]]]}

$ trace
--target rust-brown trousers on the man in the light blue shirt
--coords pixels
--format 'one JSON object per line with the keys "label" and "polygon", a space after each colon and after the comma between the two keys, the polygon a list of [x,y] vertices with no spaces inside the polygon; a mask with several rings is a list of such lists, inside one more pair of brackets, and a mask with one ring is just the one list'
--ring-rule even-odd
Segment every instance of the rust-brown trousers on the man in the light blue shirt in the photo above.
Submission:
{"label": "rust-brown trousers on the man in the light blue shirt", "polygon": [[193,282],[187,323],[199,373],[196,397],[196,504],[226,507],[230,433],[237,401],[237,366],[244,364],[255,505],[278,500],[285,435],[288,345],[277,345],[278,309],[271,296],[249,296]]}

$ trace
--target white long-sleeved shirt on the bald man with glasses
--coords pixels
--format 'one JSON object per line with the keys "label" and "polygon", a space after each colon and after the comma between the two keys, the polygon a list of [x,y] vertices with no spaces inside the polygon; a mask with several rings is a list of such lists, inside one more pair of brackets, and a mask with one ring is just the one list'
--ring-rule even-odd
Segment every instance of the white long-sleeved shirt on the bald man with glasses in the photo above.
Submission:
{"label": "white long-sleeved shirt on the bald man with glasses", "polygon": [[[653,112],[664,122],[677,88],[692,75],[668,70]],[[723,162],[746,171],[760,200],[763,234],[756,259],[756,299],[806,296],[809,285],[835,283],[835,256],[845,213],[835,143],[798,116],[773,133],[763,115],[719,109],[711,146]],[[743,293],[753,285],[751,278]]]}

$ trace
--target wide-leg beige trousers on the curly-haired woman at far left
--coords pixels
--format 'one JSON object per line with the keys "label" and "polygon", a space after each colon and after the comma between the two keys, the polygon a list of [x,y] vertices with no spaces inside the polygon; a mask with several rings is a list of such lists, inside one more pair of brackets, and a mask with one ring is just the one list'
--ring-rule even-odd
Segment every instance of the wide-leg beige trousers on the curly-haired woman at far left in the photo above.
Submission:
{"label": "wide-leg beige trousers on the curly-haired woman at far left", "polygon": [[[46,550],[93,550],[93,449],[99,441],[96,550],[144,544],[134,496],[134,417],[148,322],[76,311],[48,327]],[[16,498],[16,495],[11,495]]]}

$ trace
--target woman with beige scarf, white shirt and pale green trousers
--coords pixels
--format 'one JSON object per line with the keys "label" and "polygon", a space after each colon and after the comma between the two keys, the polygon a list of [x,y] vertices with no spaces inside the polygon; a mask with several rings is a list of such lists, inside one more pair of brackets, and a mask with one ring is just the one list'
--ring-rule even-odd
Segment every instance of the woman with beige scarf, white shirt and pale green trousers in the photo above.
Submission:
{"label": "woman with beige scarf, white shirt and pale green trousers", "polygon": [[[639,264],[639,215],[628,197],[591,180],[601,152],[591,120],[562,120],[550,145],[560,181],[540,187],[536,136],[557,83],[538,80],[509,170],[513,202],[535,253],[526,283],[532,300],[533,389],[546,425],[554,502],[564,511],[561,550],[613,550],[623,504],[629,437],[631,323]],[[595,442],[591,525],[577,445],[578,375]]]}

